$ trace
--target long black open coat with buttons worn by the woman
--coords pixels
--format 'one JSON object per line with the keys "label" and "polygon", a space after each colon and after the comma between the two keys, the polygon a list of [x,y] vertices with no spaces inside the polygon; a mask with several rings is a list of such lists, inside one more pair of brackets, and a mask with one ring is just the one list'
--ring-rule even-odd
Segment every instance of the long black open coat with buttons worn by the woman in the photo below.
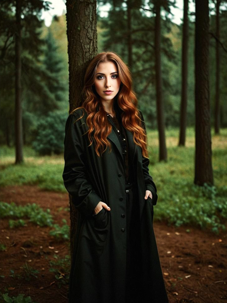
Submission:
{"label": "long black open coat with buttons worn by the woman", "polygon": [[[82,119],[78,120],[79,117]],[[70,273],[70,303],[125,303],[126,287],[126,193],[122,150],[114,130],[107,137],[109,149],[98,157],[87,138],[87,113],[77,109],[69,115],[65,128],[65,187],[78,208],[77,232]],[[167,303],[158,250],[153,230],[156,187],[149,175],[149,160],[126,130],[129,152],[133,155],[138,197],[140,264],[138,303]],[[153,199],[144,199],[150,190]],[[110,211],[92,212],[99,201]],[[122,216],[123,215],[123,216]],[[138,236],[137,236],[138,237]],[[137,301],[136,301],[137,302]]]}

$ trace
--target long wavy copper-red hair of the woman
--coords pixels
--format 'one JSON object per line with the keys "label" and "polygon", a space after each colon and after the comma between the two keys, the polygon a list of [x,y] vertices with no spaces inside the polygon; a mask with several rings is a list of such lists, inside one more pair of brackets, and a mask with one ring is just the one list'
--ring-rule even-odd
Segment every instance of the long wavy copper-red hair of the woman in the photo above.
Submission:
{"label": "long wavy copper-red hair of the woman", "polygon": [[[140,114],[137,109],[137,98],[131,89],[132,80],[131,74],[127,65],[122,59],[114,52],[102,52],[96,55],[87,67],[84,77],[84,88],[82,96],[84,102],[80,108],[84,108],[88,114],[87,116],[87,135],[90,145],[94,138],[95,151],[98,156],[102,155],[107,147],[111,150],[110,142],[107,136],[111,133],[112,126],[108,123],[108,118],[102,103],[100,102],[99,95],[96,93],[95,75],[97,66],[100,62],[112,61],[118,67],[118,76],[122,82],[120,89],[115,96],[114,106],[116,102],[121,109],[122,125],[133,133],[134,142],[141,147],[142,155],[148,157],[147,138],[145,130],[142,127]],[[80,117],[79,119],[81,119]],[[90,146],[89,145],[89,146]]]}

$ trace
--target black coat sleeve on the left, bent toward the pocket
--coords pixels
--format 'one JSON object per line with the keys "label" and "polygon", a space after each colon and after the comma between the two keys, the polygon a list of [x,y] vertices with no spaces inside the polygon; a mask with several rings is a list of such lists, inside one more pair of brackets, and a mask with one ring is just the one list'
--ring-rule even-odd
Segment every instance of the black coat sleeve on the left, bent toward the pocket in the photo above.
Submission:
{"label": "black coat sleeve on the left, bent toward the pocket", "polygon": [[69,115],[65,125],[65,167],[63,180],[65,188],[72,196],[72,202],[84,216],[92,214],[102,199],[92,188],[86,170],[84,158],[84,136],[81,124],[74,114]]}

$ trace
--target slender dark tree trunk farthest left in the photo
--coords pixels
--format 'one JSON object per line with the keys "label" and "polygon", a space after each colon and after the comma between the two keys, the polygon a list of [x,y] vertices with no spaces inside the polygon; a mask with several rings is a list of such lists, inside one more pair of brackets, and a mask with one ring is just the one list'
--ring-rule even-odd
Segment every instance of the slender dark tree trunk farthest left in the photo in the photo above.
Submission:
{"label": "slender dark tree trunk farthest left in the photo", "polygon": [[16,0],[15,35],[15,145],[16,161],[23,162],[23,127],[21,106],[21,0]]}

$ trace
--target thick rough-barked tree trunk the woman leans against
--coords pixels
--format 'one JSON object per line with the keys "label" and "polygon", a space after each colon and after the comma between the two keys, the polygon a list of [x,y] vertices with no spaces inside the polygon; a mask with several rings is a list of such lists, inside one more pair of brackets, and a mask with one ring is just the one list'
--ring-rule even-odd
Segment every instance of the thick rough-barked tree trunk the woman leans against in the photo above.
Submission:
{"label": "thick rough-barked tree trunk the woman leans against", "polygon": [[[97,53],[96,0],[66,1],[69,55],[69,112],[81,105],[85,70]],[[77,210],[70,200],[70,250],[76,232]]]}

